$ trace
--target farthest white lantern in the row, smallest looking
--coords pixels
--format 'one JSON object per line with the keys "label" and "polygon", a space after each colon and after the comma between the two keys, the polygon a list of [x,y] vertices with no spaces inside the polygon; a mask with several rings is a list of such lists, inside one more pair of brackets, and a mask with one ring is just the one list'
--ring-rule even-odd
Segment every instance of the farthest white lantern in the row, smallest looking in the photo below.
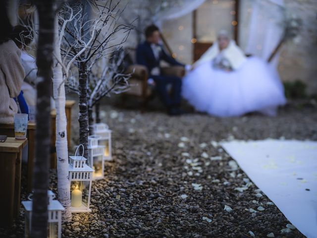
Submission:
{"label": "farthest white lantern in the row, smallest looking", "polygon": [[106,123],[95,123],[94,134],[99,135],[98,144],[105,146],[104,160],[111,161],[111,130]]}

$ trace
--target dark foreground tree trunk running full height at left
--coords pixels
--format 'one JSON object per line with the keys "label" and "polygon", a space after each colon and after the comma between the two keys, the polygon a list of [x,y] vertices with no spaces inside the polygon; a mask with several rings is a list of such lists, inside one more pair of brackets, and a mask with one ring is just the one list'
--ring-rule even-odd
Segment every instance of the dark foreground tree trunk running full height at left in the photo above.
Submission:
{"label": "dark foreground tree trunk running full height at left", "polygon": [[39,40],[36,64],[38,67],[36,104],[36,147],[33,169],[32,238],[48,237],[48,187],[51,147],[51,82],[53,63],[54,0],[35,0],[39,12]]}

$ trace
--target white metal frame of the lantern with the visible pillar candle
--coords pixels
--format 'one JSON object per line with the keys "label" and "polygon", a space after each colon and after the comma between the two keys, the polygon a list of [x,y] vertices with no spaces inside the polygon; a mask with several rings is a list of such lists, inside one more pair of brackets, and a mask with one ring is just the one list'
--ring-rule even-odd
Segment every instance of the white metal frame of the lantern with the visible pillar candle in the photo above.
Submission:
{"label": "white metal frame of the lantern with the visible pillar candle", "polygon": [[[84,146],[83,147],[83,154],[84,154]],[[76,156],[78,146],[75,152],[74,156],[69,156],[69,184],[70,184],[70,190],[72,186],[72,182],[78,182],[80,184],[79,190],[83,193],[83,183],[88,182],[88,198],[87,198],[87,205],[82,201],[81,206],[79,207],[73,207],[71,206],[71,212],[72,213],[84,213],[84,212],[91,212],[90,207],[90,196],[91,196],[91,185],[92,185],[92,179],[93,179],[93,173],[95,172],[94,169],[90,168],[86,161],[87,159],[83,156]],[[72,191],[70,191],[72,193]],[[71,195],[72,196],[72,195]],[[83,195],[82,195],[83,198]]]}

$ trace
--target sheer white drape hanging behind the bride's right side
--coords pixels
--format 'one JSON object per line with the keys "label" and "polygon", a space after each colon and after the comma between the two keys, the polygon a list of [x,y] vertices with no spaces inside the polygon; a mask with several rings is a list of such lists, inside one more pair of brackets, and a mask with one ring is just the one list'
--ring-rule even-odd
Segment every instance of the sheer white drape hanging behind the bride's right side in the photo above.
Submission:
{"label": "sheer white drape hanging behind the bride's right side", "polygon": [[[245,52],[267,60],[283,34],[283,0],[253,0]],[[271,61],[278,62],[278,55]]]}

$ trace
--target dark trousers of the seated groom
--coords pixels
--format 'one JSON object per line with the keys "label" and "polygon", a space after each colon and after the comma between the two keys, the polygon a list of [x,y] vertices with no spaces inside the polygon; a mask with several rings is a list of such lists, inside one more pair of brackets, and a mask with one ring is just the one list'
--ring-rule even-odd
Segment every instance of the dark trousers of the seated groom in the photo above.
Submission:
{"label": "dark trousers of the seated groom", "polygon": [[[153,75],[159,97],[167,107],[179,106],[181,101],[182,79],[176,76]],[[171,84],[171,93],[167,86]]]}

